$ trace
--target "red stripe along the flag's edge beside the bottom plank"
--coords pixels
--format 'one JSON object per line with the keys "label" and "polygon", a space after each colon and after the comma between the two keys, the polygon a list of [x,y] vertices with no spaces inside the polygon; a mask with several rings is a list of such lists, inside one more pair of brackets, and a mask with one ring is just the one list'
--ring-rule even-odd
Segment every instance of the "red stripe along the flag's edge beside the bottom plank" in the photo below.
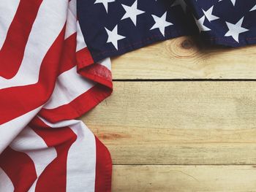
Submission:
{"label": "red stripe along the flag's edge beside the bottom plank", "polygon": [[95,177],[95,192],[110,192],[111,177],[112,177],[112,160],[110,153],[95,137],[96,140],[96,177]]}

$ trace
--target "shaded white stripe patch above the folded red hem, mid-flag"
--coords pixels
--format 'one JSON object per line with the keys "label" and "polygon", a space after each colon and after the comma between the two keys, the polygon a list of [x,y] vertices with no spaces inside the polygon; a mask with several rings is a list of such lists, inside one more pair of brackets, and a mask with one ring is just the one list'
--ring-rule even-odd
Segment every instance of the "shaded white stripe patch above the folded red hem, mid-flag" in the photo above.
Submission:
{"label": "shaded white stripe patch above the folded red hem, mid-flag", "polygon": [[77,73],[77,67],[69,69],[59,75],[52,96],[45,109],[53,109],[76,99],[95,85],[91,80],[86,80]]}

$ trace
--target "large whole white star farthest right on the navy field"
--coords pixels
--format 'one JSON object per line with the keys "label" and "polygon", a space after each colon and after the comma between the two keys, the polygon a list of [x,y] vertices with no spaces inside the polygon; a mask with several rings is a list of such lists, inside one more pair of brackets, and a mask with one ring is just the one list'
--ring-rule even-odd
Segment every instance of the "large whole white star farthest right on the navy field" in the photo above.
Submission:
{"label": "large whole white star farthest right on the navy field", "polygon": [[229,31],[227,31],[227,33],[225,34],[225,37],[232,36],[233,39],[236,40],[236,42],[239,42],[239,39],[238,39],[239,34],[244,33],[245,31],[249,31],[247,28],[241,27],[243,20],[244,20],[244,17],[241,18],[241,20],[238,20],[238,23],[236,24],[226,22]]}

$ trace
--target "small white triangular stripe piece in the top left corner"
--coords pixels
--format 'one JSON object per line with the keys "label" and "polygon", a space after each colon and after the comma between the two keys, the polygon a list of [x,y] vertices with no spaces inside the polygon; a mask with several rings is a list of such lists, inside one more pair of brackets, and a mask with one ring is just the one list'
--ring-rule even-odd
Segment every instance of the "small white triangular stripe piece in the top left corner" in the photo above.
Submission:
{"label": "small white triangular stripe piece in the top left corner", "polygon": [[20,0],[0,0],[0,50],[17,11]]}

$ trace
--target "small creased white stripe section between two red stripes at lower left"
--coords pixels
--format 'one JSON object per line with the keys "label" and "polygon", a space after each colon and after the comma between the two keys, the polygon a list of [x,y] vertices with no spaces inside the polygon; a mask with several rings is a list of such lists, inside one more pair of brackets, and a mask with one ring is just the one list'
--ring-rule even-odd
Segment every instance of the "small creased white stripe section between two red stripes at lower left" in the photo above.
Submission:
{"label": "small creased white stripe section between two red stripes at lower left", "polygon": [[[56,149],[54,147],[48,147],[45,141],[28,126],[13,140],[10,147],[13,150],[29,155],[34,162],[37,180],[46,166],[57,157]],[[37,180],[33,183],[29,191],[35,191]]]}

